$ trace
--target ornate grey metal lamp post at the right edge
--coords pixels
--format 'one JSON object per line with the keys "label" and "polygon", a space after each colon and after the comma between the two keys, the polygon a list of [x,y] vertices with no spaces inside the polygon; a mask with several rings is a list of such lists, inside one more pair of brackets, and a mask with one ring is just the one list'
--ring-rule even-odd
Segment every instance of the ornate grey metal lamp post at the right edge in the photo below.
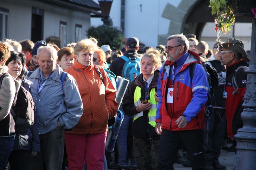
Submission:
{"label": "ornate grey metal lamp post at the right edge", "polygon": [[[235,6],[236,7],[236,6]],[[244,94],[244,110],[241,114],[243,127],[238,129],[234,138],[237,140],[235,170],[255,169],[256,167],[256,18],[251,12],[256,7],[255,0],[237,0],[236,15],[252,17],[252,41],[250,65],[247,73]]]}

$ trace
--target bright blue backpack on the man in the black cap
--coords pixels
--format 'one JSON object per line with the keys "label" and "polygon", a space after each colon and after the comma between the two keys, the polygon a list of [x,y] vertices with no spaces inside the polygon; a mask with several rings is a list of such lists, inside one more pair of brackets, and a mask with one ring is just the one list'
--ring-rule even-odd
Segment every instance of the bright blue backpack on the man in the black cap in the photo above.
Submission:
{"label": "bright blue backpack on the man in the black cap", "polygon": [[132,80],[134,80],[136,77],[138,77],[141,74],[141,68],[140,68],[140,58],[133,58],[126,56],[121,56],[123,60],[125,60],[125,64],[122,69],[122,77],[125,79],[130,80],[130,83]]}

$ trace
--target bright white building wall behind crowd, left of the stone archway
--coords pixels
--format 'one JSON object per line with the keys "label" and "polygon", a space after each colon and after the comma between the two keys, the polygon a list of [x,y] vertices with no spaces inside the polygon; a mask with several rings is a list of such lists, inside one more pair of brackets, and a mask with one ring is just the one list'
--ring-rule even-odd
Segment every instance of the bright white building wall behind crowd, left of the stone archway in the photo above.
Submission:
{"label": "bright white building wall behind crowd, left of the stone archway", "polygon": [[[94,0],[98,3],[98,0]],[[126,0],[125,37],[135,36],[146,46],[158,45],[158,34],[167,34],[170,20],[161,17],[167,3],[178,6],[181,0]],[[140,4],[142,7],[140,7]],[[120,28],[121,0],[113,0],[110,18],[113,25]],[[91,18],[91,26],[102,25],[100,18]]]}

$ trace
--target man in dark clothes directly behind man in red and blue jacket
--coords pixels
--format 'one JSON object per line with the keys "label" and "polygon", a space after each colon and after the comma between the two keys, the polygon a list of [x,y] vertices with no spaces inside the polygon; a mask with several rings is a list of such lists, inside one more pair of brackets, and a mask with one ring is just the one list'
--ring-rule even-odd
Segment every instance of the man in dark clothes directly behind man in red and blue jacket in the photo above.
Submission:
{"label": "man in dark clothes directly behind man in red and blue jacket", "polygon": [[221,53],[221,43],[215,43],[213,46],[213,55],[207,63],[214,67],[218,73],[219,86],[214,89],[212,97],[212,115],[209,119],[208,138],[205,140],[205,160],[207,170],[226,170],[224,165],[219,163],[221,154],[221,144],[226,131],[225,101],[223,96],[226,83],[226,68],[221,64],[219,54]]}

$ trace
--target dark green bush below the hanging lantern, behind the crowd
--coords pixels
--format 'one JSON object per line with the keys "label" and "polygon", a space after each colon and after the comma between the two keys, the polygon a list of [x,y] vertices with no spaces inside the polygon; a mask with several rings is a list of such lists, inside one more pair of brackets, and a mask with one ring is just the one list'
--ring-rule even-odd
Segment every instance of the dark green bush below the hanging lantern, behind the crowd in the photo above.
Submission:
{"label": "dark green bush below the hanging lantern, behind the crowd", "polygon": [[120,49],[123,44],[123,33],[117,27],[112,25],[101,25],[98,27],[90,27],[86,31],[88,37],[94,37],[98,40],[98,45],[108,44],[110,47]]}

